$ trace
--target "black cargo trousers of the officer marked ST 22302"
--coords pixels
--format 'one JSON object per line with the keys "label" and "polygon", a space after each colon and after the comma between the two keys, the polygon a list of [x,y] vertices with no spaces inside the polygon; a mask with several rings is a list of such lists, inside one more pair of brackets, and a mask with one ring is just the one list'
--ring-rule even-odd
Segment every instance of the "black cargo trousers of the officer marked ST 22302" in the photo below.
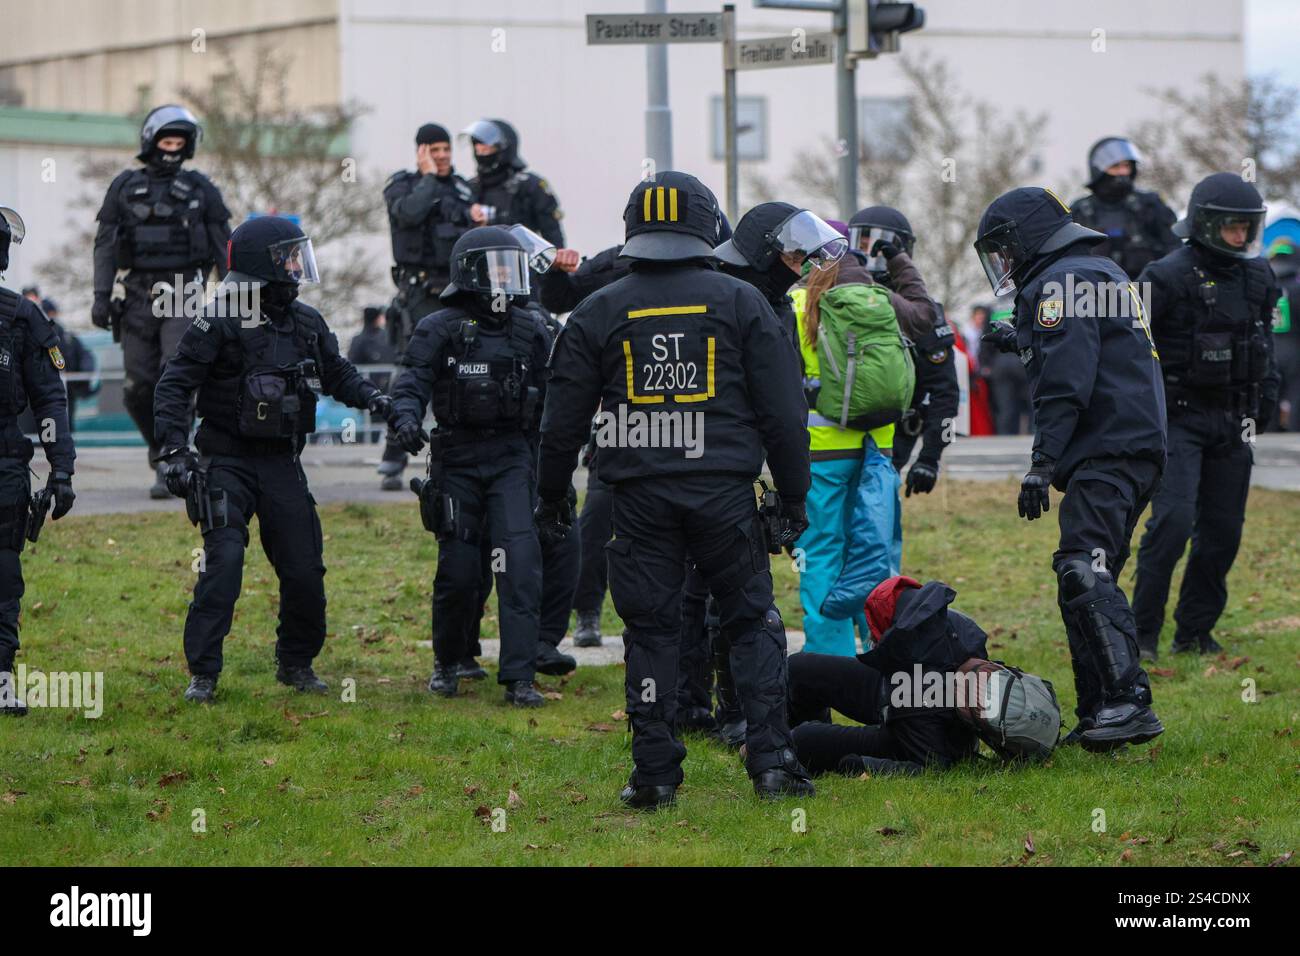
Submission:
{"label": "black cargo trousers of the officer marked ST 22302", "polygon": [[686,559],[718,600],[732,672],[749,723],[746,770],[797,767],[785,717],[785,627],[754,485],[724,475],[647,477],[614,489],[610,596],[623,618],[625,710],[637,786],[681,783],[686,748],[673,732]]}

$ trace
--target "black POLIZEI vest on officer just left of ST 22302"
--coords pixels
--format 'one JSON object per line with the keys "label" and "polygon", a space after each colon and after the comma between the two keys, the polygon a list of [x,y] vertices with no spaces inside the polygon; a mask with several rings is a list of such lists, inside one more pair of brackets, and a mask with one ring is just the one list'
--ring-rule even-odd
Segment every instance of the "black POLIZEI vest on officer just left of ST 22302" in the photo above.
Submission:
{"label": "black POLIZEI vest on officer just left of ST 22302", "polygon": [[536,388],[528,385],[537,329],[526,313],[511,312],[507,334],[482,334],[460,320],[433,386],[438,429],[523,431],[537,418]]}

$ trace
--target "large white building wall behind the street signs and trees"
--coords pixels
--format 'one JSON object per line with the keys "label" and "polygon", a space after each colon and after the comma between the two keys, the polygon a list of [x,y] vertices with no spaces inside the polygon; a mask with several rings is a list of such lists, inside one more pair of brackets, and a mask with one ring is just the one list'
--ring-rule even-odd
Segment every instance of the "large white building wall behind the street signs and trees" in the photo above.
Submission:
{"label": "large white building wall behind the street signs and trees", "polygon": [[[944,60],[961,88],[1006,114],[1050,116],[1041,181],[1080,191],[1088,146],[1154,114],[1149,87],[1191,88],[1205,73],[1244,72],[1242,0],[923,0],[927,23],[902,38],[913,56]],[[744,36],[829,29],[829,14],[736,4]],[[413,164],[422,122],[456,130],[480,116],[510,120],[521,153],[563,204],[569,243],[594,252],[620,238],[619,217],[641,176],[645,140],[644,47],[588,47],[585,14],[638,12],[641,0],[341,0],[344,99],[372,107],[355,137],[363,168],[385,174]],[[718,9],[670,0],[671,12]],[[1095,52],[1096,30],[1105,52]],[[504,47],[502,49],[502,47]],[[673,160],[724,194],[711,157],[710,100],[722,94],[722,49],[670,47]],[[833,66],[742,72],[741,96],[767,99],[768,157],[742,164],[779,179],[798,151],[835,135]],[[861,61],[859,96],[905,92],[897,61]],[[472,174],[468,148],[458,169]],[[863,196],[866,203],[870,198]],[[1179,204],[1183,198],[1171,198]],[[827,215],[833,209],[826,209]]]}

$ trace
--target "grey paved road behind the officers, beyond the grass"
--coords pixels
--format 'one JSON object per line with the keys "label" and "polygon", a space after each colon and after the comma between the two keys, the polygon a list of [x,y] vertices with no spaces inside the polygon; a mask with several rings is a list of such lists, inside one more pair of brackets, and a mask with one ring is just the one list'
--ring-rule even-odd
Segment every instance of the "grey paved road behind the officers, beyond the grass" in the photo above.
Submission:
{"label": "grey paved road behind the officers, beyond the grass", "polygon": [[[44,462],[38,454],[36,470],[44,480]],[[1030,460],[1030,437],[959,438],[944,453],[944,472],[956,479],[993,481],[1019,477]],[[1254,451],[1252,484],[1260,488],[1300,490],[1300,434],[1261,436]],[[311,445],[303,451],[303,467],[312,494],[321,503],[359,501],[372,503],[413,503],[407,492],[381,492],[376,467],[377,445]],[[407,477],[424,471],[407,468]],[[578,475],[577,486],[584,488]],[[142,447],[92,447],[77,455],[77,514],[114,514],[179,510],[178,499],[150,501],[152,475]]]}

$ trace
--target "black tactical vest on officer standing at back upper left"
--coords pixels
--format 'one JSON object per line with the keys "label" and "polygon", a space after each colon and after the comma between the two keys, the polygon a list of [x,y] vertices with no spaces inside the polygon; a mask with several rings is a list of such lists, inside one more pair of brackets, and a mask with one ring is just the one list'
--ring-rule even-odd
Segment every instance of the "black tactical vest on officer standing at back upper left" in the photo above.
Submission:
{"label": "black tactical vest on officer standing at back upper left", "polygon": [[118,193],[117,267],[142,272],[196,269],[211,258],[208,195],[196,174],[153,177],[136,169]]}

